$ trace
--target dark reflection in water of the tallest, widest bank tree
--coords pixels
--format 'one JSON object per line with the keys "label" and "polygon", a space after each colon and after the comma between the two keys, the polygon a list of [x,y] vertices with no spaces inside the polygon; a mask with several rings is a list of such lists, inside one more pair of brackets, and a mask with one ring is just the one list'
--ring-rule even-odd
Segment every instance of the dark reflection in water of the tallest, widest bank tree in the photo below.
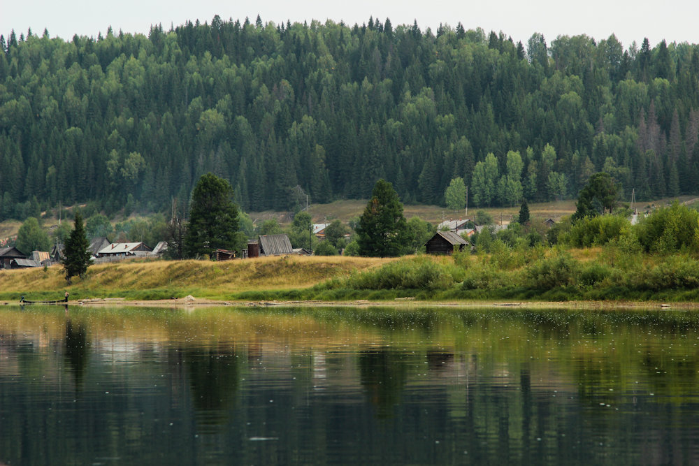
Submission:
{"label": "dark reflection in water of the tallest, widest bank tree", "polygon": [[235,406],[240,367],[236,349],[213,347],[180,350],[189,374],[196,419],[202,425],[222,425]]}

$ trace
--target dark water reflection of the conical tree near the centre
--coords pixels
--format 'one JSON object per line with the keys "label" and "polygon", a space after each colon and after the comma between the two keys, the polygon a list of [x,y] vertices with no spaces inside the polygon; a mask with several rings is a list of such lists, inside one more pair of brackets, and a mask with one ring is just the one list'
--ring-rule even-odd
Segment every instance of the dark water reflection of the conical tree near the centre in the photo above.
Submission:
{"label": "dark water reflection of the conical tree near the centre", "polygon": [[391,417],[401,400],[408,372],[404,357],[386,348],[359,352],[361,384],[379,418]]}

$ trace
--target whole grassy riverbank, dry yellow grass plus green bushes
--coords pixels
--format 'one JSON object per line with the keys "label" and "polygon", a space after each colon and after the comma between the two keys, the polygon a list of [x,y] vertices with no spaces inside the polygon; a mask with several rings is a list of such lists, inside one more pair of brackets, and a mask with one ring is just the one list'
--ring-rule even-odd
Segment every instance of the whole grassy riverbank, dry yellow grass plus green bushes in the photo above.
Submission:
{"label": "whole grassy riverbank, dry yellow grass plus green bushes", "polygon": [[496,250],[401,259],[286,256],[245,261],[93,265],[66,286],[62,268],[0,272],[0,300],[187,295],[213,300],[632,300],[699,302],[699,259],[620,247]]}

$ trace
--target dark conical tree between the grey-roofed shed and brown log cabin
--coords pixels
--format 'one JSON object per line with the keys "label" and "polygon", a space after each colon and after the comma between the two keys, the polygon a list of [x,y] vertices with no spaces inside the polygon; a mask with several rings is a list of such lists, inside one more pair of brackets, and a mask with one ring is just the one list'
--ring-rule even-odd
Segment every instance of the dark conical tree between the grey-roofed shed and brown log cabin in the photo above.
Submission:
{"label": "dark conical tree between the grey-roofed shed and brown log cabin", "polygon": [[356,228],[361,256],[400,256],[408,250],[408,225],[393,185],[378,180]]}

